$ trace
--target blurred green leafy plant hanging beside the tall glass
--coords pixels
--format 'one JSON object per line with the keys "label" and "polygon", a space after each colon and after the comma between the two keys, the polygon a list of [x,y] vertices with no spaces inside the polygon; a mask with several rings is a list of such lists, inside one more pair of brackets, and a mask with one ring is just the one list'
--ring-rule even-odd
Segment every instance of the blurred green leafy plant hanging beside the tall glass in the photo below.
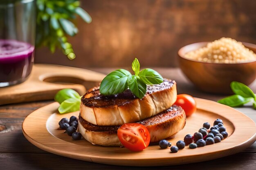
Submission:
{"label": "blurred green leafy plant hanging beside the tall glass", "polygon": [[74,36],[78,29],[71,21],[79,15],[87,23],[90,15],[80,6],[79,0],[36,0],[36,46],[48,46],[54,53],[56,47],[72,60],[76,57],[67,36]]}

